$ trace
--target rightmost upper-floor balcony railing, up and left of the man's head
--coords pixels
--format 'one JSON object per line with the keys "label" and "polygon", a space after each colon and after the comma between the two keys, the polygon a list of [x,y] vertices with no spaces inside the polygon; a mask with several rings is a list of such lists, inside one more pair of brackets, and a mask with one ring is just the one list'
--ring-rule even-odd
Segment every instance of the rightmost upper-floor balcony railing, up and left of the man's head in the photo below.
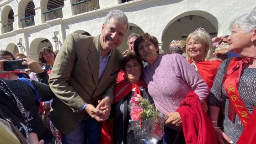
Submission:
{"label": "rightmost upper-floor balcony railing, up and left of the man's head", "polygon": [[75,15],[100,9],[99,0],[83,0],[72,5],[75,7]]}

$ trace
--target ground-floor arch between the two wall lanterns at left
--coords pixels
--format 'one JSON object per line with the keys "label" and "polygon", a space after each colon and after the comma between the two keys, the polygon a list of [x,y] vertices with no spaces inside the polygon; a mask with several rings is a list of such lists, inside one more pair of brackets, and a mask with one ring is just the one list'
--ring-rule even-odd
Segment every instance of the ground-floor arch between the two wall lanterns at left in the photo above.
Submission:
{"label": "ground-floor arch between the two wall lanterns at left", "polygon": [[51,48],[53,50],[53,45],[47,38],[39,37],[32,41],[29,46],[29,58],[38,60],[39,53],[43,47]]}

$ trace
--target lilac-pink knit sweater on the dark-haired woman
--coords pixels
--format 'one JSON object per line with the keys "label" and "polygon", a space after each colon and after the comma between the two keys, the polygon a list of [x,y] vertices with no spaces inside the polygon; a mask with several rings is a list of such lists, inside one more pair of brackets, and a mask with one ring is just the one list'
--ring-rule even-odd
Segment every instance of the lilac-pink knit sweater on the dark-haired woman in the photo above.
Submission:
{"label": "lilac-pink knit sweater on the dark-haired woman", "polygon": [[164,114],[176,112],[191,90],[201,102],[209,94],[201,76],[180,54],[160,55],[154,64],[143,69],[143,77],[155,106]]}

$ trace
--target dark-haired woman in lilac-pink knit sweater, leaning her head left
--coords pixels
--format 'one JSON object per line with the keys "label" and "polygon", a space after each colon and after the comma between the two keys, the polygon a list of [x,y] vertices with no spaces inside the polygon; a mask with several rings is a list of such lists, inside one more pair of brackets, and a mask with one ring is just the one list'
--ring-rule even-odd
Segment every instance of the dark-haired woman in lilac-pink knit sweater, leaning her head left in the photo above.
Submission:
{"label": "dark-haired woman in lilac-pink knit sweater, leaning her head left", "polygon": [[139,58],[149,63],[143,69],[143,77],[155,106],[169,116],[165,120],[162,143],[185,144],[183,133],[180,133],[181,116],[176,110],[189,91],[194,91],[203,102],[209,94],[208,86],[180,54],[159,55],[158,40],[148,33],[136,39],[134,50]]}

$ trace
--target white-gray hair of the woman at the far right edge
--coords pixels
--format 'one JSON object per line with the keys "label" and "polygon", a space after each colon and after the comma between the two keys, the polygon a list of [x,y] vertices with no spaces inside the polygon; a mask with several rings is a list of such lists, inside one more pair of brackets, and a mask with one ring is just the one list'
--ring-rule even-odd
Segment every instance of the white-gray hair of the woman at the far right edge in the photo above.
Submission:
{"label": "white-gray hair of the woman at the far right edge", "polygon": [[233,27],[240,27],[245,32],[249,33],[254,28],[256,28],[256,7],[252,9],[250,14],[242,15],[237,18],[230,24],[230,31]]}

